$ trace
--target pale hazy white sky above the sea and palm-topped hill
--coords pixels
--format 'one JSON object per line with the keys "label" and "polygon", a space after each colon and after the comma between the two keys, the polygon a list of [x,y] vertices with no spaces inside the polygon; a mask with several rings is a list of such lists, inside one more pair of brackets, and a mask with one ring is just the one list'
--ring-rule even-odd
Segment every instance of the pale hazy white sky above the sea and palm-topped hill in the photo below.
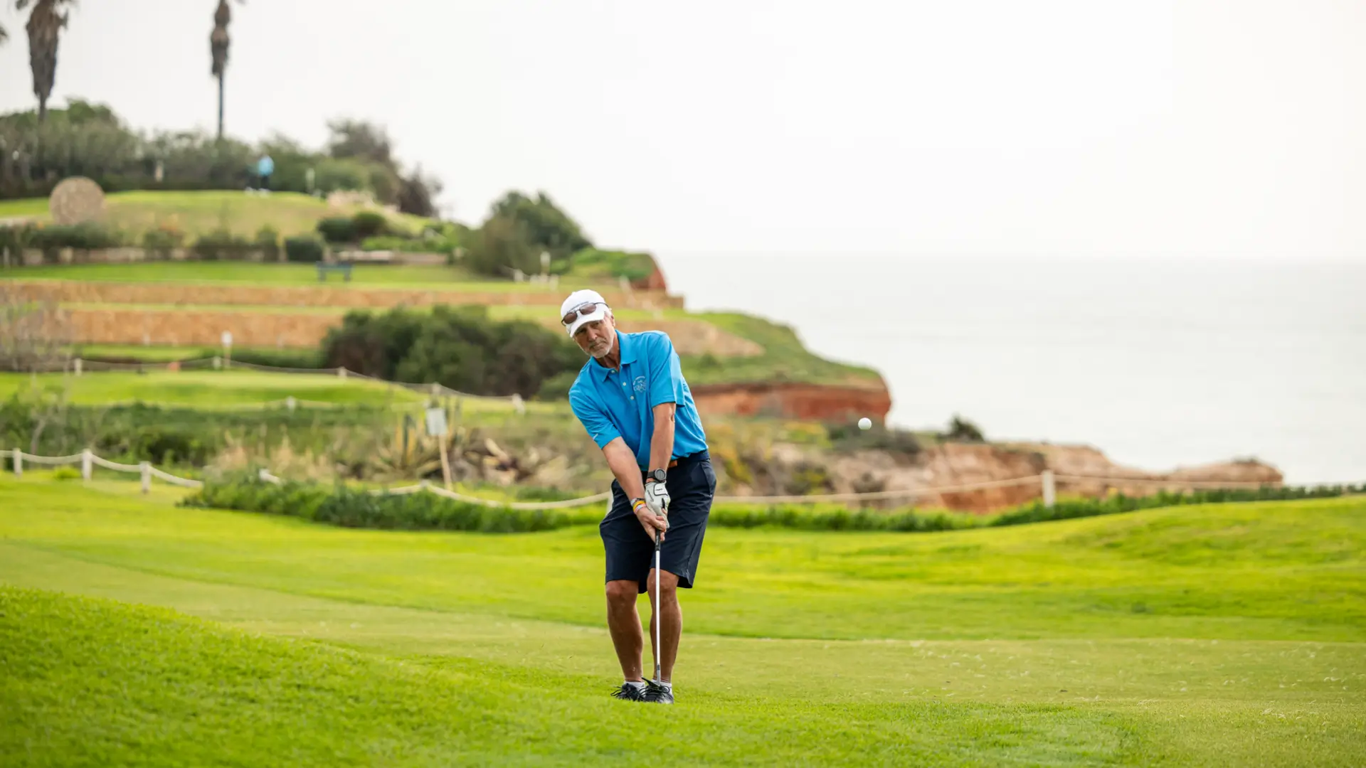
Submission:
{"label": "pale hazy white sky above the sea and palm-topped hill", "polygon": [[[0,111],[33,104],[0,20]],[[209,128],[216,0],[83,0],[57,101]],[[228,130],[388,126],[478,220],[656,251],[1366,258],[1366,3],[234,5]]]}

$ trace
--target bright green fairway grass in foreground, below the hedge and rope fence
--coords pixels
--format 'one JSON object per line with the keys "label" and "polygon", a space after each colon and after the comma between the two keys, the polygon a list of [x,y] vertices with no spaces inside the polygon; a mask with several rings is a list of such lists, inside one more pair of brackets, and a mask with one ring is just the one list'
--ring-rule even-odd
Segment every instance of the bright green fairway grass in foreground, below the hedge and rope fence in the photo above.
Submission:
{"label": "bright green fairway grass in foreground, below the hedge and rope fence", "polygon": [[0,655],[20,672],[0,681],[19,713],[0,750],[1356,765],[1363,552],[1361,497],[914,536],[714,529],[682,597],[679,704],[660,713],[605,697],[619,672],[591,527],[358,532],[5,477],[0,584],[187,616],[4,593]]}

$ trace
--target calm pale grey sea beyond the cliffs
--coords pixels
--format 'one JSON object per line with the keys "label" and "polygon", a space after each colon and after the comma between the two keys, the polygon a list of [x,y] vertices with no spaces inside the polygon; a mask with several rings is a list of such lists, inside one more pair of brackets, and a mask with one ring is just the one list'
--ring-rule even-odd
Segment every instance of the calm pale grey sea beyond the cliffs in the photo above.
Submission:
{"label": "calm pale grey sea beyond the cliffs", "polygon": [[690,309],[739,309],[866,364],[889,421],[1233,458],[1366,481],[1366,262],[661,254]]}

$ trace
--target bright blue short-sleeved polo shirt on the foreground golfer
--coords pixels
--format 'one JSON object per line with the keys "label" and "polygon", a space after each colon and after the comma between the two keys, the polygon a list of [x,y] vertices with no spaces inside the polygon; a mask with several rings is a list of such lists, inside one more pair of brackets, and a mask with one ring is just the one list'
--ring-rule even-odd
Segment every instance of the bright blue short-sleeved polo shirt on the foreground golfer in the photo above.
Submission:
{"label": "bright blue short-sleeved polo shirt on the foreground golfer", "polygon": [[616,332],[622,350],[620,372],[589,358],[570,387],[570,407],[598,448],[622,437],[642,470],[650,465],[654,406],[675,403],[673,455],[679,459],[706,450],[706,433],[697,415],[693,392],[683,380],[683,366],[673,342],[663,331]]}

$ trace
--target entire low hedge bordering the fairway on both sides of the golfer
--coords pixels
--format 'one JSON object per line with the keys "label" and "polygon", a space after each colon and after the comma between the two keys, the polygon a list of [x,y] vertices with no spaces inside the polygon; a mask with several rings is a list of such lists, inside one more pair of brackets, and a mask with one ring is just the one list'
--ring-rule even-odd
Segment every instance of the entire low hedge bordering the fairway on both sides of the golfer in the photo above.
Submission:
{"label": "entire low hedge bordering the fairway on both sides of the golfer", "polygon": [[[796,530],[888,530],[933,532],[985,526],[1009,526],[1056,519],[1087,518],[1182,504],[1221,502],[1272,502],[1328,499],[1344,493],[1366,493],[1366,485],[1333,488],[1259,488],[1257,491],[1198,491],[1153,496],[1112,496],[1108,499],[1059,500],[1053,507],[1031,503],[1000,515],[963,512],[876,511],[837,507],[753,507],[720,504],[712,508],[710,525],[720,527],[790,527]],[[260,481],[209,484],[186,499],[184,506],[240,510],[298,517],[343,527],[381,530],[477,530],[484,533],[525,533],[571,525],[597,523],[600,506],[568,511],[529,511],[485,507],[445,499],[434,493],[374,495],[344,486]]]}

